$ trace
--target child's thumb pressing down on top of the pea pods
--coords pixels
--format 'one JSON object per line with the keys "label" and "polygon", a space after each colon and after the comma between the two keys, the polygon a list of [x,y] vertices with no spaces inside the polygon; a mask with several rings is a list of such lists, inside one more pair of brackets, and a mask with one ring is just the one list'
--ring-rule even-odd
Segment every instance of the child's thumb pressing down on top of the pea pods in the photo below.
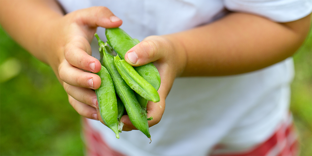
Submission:
{"label": "child's thumb pressing down on top of the pea pods", "polygon": [[124,59],[131,66],[143,66],[161,59],[165,55],[163,42],[158,36],[151,36],[126,52]]}

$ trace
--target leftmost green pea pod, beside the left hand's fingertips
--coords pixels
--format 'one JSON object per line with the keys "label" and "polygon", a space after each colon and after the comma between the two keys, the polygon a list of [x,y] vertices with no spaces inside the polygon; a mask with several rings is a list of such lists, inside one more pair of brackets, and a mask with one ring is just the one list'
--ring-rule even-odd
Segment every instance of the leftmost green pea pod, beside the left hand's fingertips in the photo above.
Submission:
{"label": "leftmost green pea pod, beside the left hand's fingertips", "polygon": [[101,78],[100,88],[95,90],[99,103],[100,116],[104,124],[115,132],[116,138],[119,138],[117,99],[113,81],[104,66],[102,66],[100,72],[95,74]]}

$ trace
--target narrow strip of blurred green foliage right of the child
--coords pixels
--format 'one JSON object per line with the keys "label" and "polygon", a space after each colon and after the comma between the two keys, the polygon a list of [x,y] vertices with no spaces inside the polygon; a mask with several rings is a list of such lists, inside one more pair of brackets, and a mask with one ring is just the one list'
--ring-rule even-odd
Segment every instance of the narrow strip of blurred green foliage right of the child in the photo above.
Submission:
{"label": "narrow strip of blurred green foliage right of the child", "polygon": [[290,110],[299,130],[302,156],[312,155],[312,31],[294,55]]}

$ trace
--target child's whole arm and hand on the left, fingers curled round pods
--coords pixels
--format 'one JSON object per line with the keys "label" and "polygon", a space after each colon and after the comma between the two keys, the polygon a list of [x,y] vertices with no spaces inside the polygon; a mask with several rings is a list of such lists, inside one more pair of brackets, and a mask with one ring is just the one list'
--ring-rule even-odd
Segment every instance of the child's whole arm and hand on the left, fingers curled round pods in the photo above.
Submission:
{"label": "child's whole arm and hand on the left, fingers curled round pods", "polygon": [[[1,25],[32,55],[56,74],[73,108],[98,118],[93,89],[100,87],[100,61],[90,56],[97,27],[119,27],[122,21],[106,7],[90,7],[64,15],[56,1],[1,0]],[[85,71],[83,71],[83,70]]]}

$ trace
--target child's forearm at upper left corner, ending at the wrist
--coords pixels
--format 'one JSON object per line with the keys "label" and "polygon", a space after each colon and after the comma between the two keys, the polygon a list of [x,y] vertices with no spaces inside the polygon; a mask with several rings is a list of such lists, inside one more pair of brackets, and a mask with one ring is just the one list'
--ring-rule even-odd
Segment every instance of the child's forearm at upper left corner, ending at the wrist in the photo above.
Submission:
{"label": "child's forearm at upper left corner, ending at the wrist", "polygon": [[7,33],[39,60],[47,62],[53,21],[63,16],[56,1],[1,0],[1,25]]}

